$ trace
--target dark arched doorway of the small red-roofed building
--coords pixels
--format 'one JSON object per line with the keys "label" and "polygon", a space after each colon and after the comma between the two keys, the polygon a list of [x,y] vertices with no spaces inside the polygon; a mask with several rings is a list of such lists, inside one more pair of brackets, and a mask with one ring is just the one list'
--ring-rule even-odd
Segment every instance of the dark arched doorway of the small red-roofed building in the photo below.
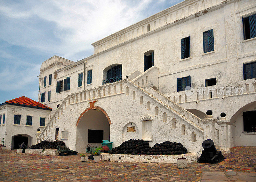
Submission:
{"label": "dark arched doorway of the small red-roofed building", "polygon": [[19,145],[24,143],[27,147],[32,145],[32,137],[27,134],[18,134],[12,136],[12,149],[19,149]]}

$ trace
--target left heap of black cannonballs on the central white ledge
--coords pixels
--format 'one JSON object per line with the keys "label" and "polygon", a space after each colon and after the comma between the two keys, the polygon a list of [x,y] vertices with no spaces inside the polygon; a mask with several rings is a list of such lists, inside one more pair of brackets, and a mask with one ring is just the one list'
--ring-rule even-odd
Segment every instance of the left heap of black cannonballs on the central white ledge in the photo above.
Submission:
{"label": "left heap of black cannonballs on the central white ledge", "polygon": [[109,153],[110,154],[132,154],[132,155],[140,155],[140,154],[150,154],[151,147],[149,147],[148,142],[144,140],[127,140],[123,142],[118,147],[112,148]]}

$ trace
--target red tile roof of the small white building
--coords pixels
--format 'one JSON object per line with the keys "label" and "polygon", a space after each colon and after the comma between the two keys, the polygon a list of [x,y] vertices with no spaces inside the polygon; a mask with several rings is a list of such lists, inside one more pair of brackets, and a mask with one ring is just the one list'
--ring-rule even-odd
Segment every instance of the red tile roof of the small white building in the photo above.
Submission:
{"label": "red tile roof of the small white building", "polygon": [[38,108],[38,109],[46,109],[46,110],[52,110],[51,107],[45,106],[39,102],[36,102],[30,98],[27,98],[25,96],[19,97],[19,98],[14,98],[12,100],[8,100],[5,102],[6,104],[11,104],[11,105],[20,105],[20,106],[27,106],[27,107],[33,107],[33,108]]}

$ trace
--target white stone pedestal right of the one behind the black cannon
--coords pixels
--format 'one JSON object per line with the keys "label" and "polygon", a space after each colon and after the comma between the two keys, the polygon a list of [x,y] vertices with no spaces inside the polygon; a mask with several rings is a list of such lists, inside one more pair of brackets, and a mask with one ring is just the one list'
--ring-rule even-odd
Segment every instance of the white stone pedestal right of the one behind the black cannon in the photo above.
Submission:
{"label": "white stone pedestal right of the one behind the black cannon", "polygon": [[226,120],[226,118],[220,118],[220,120],[217,121],[217,124],[219,125],[219,145],[220,145],[220,151],[224,153],[229,153],[230,150],[228,149],[228,124],[230,123],[229,120]]}

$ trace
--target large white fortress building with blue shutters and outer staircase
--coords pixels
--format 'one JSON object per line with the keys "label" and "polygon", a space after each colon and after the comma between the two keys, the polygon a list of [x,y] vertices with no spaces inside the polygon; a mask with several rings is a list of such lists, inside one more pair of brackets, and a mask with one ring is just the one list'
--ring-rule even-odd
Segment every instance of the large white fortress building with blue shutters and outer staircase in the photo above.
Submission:
{"label": "large white fortress building with blue shutters and outer staircase", "polygon": [[185,0],[92,43],[78,62],[53,56],[40,69],[38,102],[52,111],[36,141],[78,152],[128,139],[197,154],[205,139],[227,152],[256,146],[255,19],[252,0]]}

